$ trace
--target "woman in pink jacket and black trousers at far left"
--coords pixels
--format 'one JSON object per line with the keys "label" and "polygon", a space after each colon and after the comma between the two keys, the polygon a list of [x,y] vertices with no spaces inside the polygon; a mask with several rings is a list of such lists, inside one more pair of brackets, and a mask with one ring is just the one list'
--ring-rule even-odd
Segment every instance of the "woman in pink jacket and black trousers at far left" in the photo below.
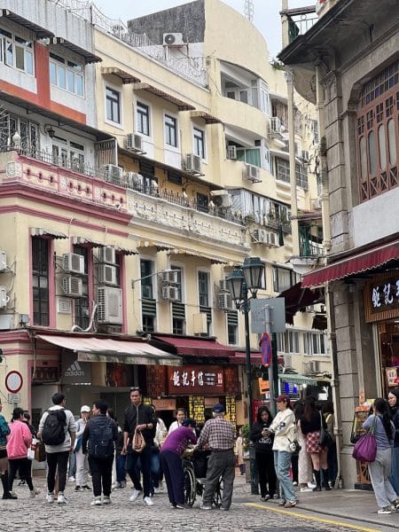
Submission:
{"label": "woman in pink jacket and black trousers at far left", "polygon": [[[40,491],[34,488],[32,482],[31,461],[27,458],[27,450],[32,442],[32,433],[24,422],[24,411],[21,408],[14,408],[9,426],[11,432],[7,436],[7,456],[10,467],[10,492],[12,493],[12,484],[18,471],[20,479],[27,481],[27,487],[30,489],[29,497],[33,498]],[[12,493],[12,495],[14,494]]]}

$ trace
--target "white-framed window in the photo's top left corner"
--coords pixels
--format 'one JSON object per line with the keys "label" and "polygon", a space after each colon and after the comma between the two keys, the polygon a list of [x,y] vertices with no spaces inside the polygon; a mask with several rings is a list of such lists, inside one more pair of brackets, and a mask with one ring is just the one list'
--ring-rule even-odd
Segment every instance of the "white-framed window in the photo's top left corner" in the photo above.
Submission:
{"label": "white-framed window in the photo's top left corner", "polygon": [[34,74],[34,45],[19,35],[0,28],[1,60],[7,66]]}

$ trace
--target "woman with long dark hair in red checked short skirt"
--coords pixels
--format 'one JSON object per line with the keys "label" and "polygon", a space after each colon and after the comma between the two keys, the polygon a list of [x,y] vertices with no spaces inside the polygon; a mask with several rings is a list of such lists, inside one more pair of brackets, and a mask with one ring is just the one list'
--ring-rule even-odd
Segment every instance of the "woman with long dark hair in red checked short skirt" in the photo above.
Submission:
{"label": "woman with long dark hair in red checked short skirt", "polygon": [[328,484],[327,448],[322,447],[319,443],[322,423],[324,428],[327,428],[323,414],[316,408],[315,397],[308,395],[305,398],[301,416],[301,431],[305,435],[306,451],[309,453],[313,465],[313,474],[316,480],[314,491],[321,491],[322,489],[321,473],[323,473],[323,486],[327,491],[331,489]]}

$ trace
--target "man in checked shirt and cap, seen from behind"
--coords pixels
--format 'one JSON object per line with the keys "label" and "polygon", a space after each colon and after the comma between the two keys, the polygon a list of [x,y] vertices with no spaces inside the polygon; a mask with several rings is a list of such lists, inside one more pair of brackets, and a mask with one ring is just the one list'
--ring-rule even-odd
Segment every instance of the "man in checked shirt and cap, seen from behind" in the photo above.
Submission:
{"label": "man in checked shirt and cap, seen from behind", "polygon": [[234,484],[236,463],[234,457],[234,439],[236,431],[231,422],[224,419],[223,404],[214,404],[212,412],[214,418],[209,419],[204,425],[198,440],[199,448],[207,446],[207,448],[211,450],[207,461],[207,478],[205,481],[201,509],[212,510],[215,489],[222,476],[223,497],[220,509],[228,511],[231,506]]}

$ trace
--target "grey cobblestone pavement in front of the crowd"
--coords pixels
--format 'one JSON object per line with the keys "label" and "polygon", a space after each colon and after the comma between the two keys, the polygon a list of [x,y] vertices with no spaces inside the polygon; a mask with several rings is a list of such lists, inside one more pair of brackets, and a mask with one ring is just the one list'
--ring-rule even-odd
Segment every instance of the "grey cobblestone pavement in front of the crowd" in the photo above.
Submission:
{"label": "grey cobblestone pavement in front of the crowd", "polygon": [[[354,529],[308,519],[298,520],[298,516],[289,515],[290,511],[281,513],[247,505],[248,502],[259,502],[259,497],[251,497],[249,486],[239,478],[235,484],[233,505],[229,512],[200,510],[200,499],[192,509],[171,509],[166,492],[153,497],[152,507],[145,506],[142,499],[130,503],[129,488],[114,490],[111,505],[90,506],[91,492],[76,493],[74,484],[67,485],[67,505],[49,504],[45,501],[44,479],[36,478],[34,481],[35,487],[42,490],[35,498],[29,498],[26,486],[14,486],[18,500],[0,500],[1,528],[4,531],[312,532],[323,529],[325,532],[353,532]],[[272,505],[270,508],[276,510],[278,507]]]}

